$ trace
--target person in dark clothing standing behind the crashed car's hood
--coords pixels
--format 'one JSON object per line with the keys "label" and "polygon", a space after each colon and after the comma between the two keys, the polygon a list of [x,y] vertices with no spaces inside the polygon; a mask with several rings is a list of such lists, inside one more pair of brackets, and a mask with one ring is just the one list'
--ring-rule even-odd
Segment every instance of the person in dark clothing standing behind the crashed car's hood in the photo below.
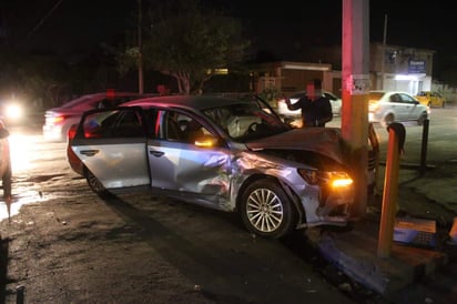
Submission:
{"label": "person in dark clothing standing behind the crashed car's hood", "polygon": [[302,128],[325,126],[325,123],[333,119],[332,104],[329,100],[322,94],[319,79],[309,81],[306,84],[306,95],[294,104],[292,104],[287,98],[285,101],[291,111],[302,109]]}

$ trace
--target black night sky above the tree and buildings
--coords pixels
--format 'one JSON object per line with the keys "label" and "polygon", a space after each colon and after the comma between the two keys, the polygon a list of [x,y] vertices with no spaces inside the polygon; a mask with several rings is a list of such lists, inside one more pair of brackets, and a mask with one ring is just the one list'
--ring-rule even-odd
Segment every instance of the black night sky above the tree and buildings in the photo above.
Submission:
{"label": "black night sky above the tree and buildings", "polygon": [[[149,0],[142,0],[143,3]],[[115,41],[134,29],[136,0],[0,0],[2,26],[9,44],[50,48],[54,51],[85,49]],[[248,1],[202,0],[223,7],[241,18],[246,37],[256,49],[291,53],[307,45],[341,44],[343,0]],[[429,7],[424,3],[437,3]],[[439,4],[438,4],[439,3]],[[431,49],[437,55],[454,51],[457,29],[451,1],[372,0],[370,41],[383,41],[387,14],[387,43]],[[54,8],[54,9],[53,9]],[[4,43],[4,42],[3,42]]]}

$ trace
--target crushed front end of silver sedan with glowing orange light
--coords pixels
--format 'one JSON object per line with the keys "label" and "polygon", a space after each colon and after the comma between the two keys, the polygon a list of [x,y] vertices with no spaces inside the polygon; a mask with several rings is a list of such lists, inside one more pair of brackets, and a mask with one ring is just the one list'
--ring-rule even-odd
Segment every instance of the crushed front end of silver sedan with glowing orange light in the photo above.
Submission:
{"label": "crushed front end of silver sedan with glowing orange light", "polygon": [[244,158],[244,170],[277,176],[302,215],[298,226],[349,222],[355,192],[339,130],[296,129],[247,146],[256,153]]}

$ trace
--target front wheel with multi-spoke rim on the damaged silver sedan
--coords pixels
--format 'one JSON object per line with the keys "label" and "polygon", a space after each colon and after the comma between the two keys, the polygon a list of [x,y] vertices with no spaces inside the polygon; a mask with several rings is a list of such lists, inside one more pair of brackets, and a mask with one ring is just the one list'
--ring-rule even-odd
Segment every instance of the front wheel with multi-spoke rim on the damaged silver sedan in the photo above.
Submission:
{"label": "front wheel with multi-spoke rim on the damaged silver sedan", "polygon": [[251,232],[267,239],[281,239],[295,227],[297,212],[273,179],[253,182],[241,200],[241,217]]}

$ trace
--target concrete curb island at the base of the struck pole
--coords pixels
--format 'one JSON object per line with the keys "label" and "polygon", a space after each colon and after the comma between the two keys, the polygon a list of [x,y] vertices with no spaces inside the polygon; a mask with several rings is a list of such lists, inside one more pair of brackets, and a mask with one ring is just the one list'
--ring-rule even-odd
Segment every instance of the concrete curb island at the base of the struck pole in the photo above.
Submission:
{"label": "concrete curb island at the base of the struck pole", "polygon": [[351,231],[308,229],[306,235],[323,256],[365,287],[386,297],[448,262],[435,250],[393,243],[389,257],[377,256],[378,223],[357,222]]}

